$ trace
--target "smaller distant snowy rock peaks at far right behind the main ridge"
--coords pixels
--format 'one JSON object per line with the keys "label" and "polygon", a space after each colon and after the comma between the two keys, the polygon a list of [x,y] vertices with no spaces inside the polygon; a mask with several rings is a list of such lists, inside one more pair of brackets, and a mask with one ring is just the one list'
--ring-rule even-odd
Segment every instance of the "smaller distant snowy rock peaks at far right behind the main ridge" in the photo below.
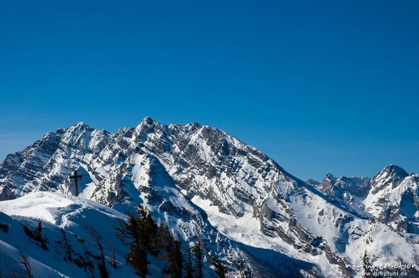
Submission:
{"label": "smaller distant snowy rock peaks at far right behind the main ridge", "polygon": [[328,173],[318,187],[397,231],[419,233],[418,181],[417,174],[390,164],[373,178],[335,178]]}

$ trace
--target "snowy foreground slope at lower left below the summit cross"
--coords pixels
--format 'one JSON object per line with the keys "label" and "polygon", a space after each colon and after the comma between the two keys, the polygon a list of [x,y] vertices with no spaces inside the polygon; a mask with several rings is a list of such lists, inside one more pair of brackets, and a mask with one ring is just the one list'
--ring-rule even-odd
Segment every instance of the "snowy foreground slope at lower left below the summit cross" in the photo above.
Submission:
{"label": "snowy foreground slope at lower left below the summit cross", "polygon": [[[87,255],[91,252],[98,255],[98,249],[91,244],[93,227],[101,231],[103,245],[115,245],[118,268],[108,263],[112,274],[120,273],[124,277],[135,277],[131,267],[125,264],[124,245],[115,241],[113,224],[117,219],[126,217],[111,208],[99,203],[52,192],[34,192],[20,199],[0,202],[0,223],[8,226],[8,231],[0,231],[0,248],[2,259],[0,268],[6,275],[12,268],[20,269],[15,260],[20,251],[28,256],[33,265],[34,277],[89,277],[98,276],[97,259]],[[43,237],[46,239],[47,250],[41,248],[39,242],[30,238],[22,225],[31,231],[36,229],[38,220],[43,224]],[[79,267],[73,261],[66,260],[61,228],[73,249],[73,258],[91,262],[94,270]],[[90,242],[90,243],[89,243]],[[109,250],[107,250],[110,256]]]}

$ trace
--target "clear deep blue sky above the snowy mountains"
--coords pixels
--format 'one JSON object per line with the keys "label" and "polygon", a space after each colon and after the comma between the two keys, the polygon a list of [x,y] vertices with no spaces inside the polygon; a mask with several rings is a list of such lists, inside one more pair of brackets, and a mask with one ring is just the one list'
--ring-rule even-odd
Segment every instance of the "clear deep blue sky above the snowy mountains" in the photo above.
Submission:
{"label": "clear deep blue sky above the snowy mountains", "polygon": [[0,159],[198,122],[295,176],[419,172],[419,1],[1,1]]}

